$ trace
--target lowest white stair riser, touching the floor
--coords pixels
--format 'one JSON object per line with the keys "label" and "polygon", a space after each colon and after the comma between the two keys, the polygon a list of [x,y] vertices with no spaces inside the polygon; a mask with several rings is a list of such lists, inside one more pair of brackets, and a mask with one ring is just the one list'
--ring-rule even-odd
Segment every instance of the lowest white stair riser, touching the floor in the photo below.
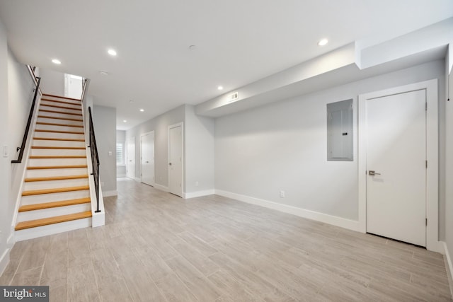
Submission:
{"label": "lowest white stair riser, touching the floor", "polygon": [[73,231],[79,228],[88,228],[89,226],[91,226],[91,217],[16,231],[14,233],[14,238],[16,239],[16,241],[22,241],[67,231]]}

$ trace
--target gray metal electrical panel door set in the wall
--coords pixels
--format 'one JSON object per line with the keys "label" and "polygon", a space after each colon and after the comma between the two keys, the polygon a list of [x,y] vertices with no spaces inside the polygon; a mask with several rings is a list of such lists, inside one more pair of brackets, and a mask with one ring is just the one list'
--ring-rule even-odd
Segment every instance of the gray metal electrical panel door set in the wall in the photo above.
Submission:
{"label": "gray metal electrical panel door set in the wall", "polygon": [[327,160],[353,161],[352,99],[327,104]]}

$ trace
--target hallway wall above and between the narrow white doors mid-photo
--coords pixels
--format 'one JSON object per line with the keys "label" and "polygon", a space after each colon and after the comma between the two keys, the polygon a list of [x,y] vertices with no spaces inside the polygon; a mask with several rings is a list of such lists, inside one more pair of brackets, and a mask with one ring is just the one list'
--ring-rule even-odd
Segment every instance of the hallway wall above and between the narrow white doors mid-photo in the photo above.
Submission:
{"label": "hallway wall above and between the narrow white doors mid-photo", "polygon": [[135,137],[135,177],[140,178],[140,134],[154,131],[154,178],[156,187],[168,188],[168,126],[185,122],[185,105],[165,112],[126,131],[126,140]]}

